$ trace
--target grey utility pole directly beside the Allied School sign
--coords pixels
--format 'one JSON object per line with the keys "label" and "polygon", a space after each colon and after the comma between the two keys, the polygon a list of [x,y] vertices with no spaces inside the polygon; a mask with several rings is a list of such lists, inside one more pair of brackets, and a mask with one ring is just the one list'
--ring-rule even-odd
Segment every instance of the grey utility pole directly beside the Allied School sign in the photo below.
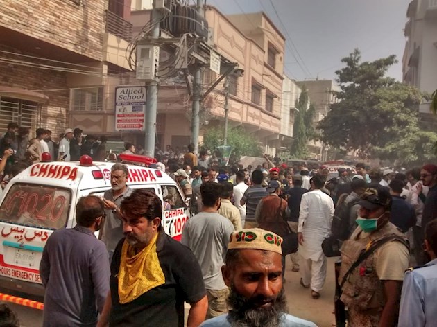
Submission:
{"label": "grey utility pole directly beside the Allied School sign", "polygon": [[[160,37],[160,23],[162,13],[155,8],[155,0],[153,0],[153,8],[151,21],[153,28],[151,30],[151,38],[157,39]],[[146,122],[144,125],[144,154],[147,157],[155,157],[155,138],[156,138],[156,116],[157,116],[157,80],[146,83],[147,99],[146,99]]]}

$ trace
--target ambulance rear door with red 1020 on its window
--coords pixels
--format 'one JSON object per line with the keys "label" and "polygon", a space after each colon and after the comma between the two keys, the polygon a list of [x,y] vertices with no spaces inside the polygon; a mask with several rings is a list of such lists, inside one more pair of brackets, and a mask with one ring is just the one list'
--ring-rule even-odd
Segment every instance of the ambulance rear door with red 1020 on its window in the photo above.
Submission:
{"label": "ambulance rear door with red 1020 on its window", "polygon": [[41,284],[44,245],[53,231],[67,227],[74,190],[22,179],[5,191],[0,204],[0,276]]}

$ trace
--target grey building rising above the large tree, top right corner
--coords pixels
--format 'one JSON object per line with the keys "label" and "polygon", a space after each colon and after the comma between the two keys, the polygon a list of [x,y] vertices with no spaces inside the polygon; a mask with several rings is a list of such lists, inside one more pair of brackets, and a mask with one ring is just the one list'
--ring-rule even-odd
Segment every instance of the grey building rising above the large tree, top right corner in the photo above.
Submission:
{"label": "grey building rising above the large tree, top right corner", "polygon": [[[403,80],[431,93],[437,89],[437,0],[411,1],[406,17]],[[429,103],[420,105],[419,111],[430,115]]]}

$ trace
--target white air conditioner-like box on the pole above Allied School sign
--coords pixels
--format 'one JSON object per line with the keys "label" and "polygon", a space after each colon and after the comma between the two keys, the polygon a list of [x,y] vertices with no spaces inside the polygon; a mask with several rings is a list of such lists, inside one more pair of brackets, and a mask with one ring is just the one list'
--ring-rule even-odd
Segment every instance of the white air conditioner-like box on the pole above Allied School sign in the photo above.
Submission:
{"label": "white air conditioner-like box on the pole above Allied School sign", "polygon": [[137,45],[137,80],[157,80],[156,69],[160,60],[160,47],[153,44]]}

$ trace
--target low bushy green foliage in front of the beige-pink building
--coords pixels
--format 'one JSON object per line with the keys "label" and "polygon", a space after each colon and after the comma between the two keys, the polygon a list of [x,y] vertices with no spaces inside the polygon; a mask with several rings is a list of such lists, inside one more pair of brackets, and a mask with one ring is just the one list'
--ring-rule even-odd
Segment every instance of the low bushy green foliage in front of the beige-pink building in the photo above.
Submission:
{"label": "low bushy green foliage in front of the beige-pink building", "polygon": [[[262,150],[256,138],[248,134],[243,127],[228,130],[227,143],[232,146],[232,157],[237,161],[239,161],[241,156],[262,156]],[[223,145],[223,128],[208,128],[203,135],[201,148],[214,151],[221,145]]]}

